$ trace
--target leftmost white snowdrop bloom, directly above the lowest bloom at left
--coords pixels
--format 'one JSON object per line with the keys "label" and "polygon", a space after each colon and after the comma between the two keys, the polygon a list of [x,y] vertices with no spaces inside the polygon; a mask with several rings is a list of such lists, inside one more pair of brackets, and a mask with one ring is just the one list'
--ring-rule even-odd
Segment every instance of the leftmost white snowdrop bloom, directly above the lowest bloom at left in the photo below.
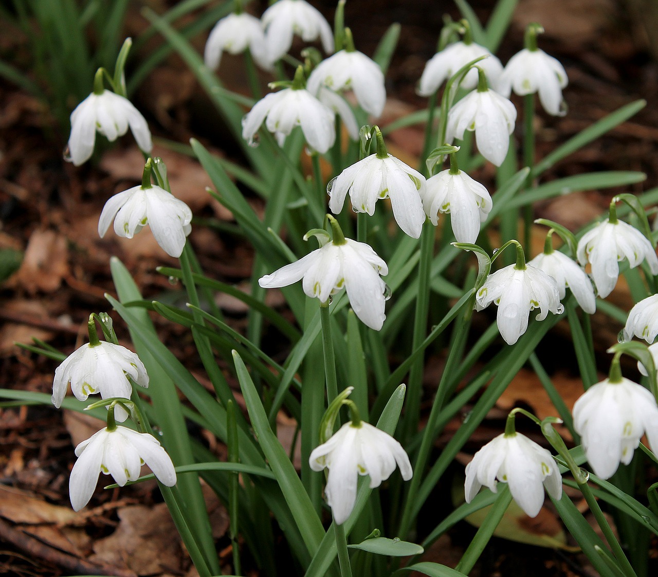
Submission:
{"label": "leftmost white snowdrop bloom, directly above the lowest bloom at left", "polygon": [[[103,399],[130,399],[132,385],[128,377],[139,386],[149,386],[146,368],[136,353],[107,341],[99,341],[97,345],[87,343],[68,355],[55,369],[51,400],[59,409],[69,385],[80,401],[86,401],[95,393],[101,393]],[[122,407],[117,407],[116,411],[118,420],[126,420],[128,413]]]}

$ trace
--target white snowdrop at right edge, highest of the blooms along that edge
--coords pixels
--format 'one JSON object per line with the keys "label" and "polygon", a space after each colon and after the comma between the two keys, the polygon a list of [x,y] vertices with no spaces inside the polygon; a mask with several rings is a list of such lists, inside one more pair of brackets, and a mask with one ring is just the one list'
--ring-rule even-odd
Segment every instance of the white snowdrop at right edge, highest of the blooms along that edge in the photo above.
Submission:
{"label": "white snowdrop at right edge, highest of the blooms along that edge", "polygon": [[576,253],[580,264],[592,264],[594,286],[603,299],[617,284],[619,261],[628,259],[630,268],[635,268],[646,259],[651,272],[658,274],[658,257],[649,240],[630,224],[617,220],[617,216],[586,232],[578,241]]}

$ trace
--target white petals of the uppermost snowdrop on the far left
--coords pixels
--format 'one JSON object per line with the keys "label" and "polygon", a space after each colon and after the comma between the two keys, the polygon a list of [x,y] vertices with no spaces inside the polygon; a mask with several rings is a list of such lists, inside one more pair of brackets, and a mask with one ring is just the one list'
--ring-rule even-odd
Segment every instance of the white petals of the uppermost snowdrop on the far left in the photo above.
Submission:
{"label": "white petals of the uppermost snowdrop on the far left", "polygon": [[71,113],[71,136],[68,139],[68,155],[76,166],[86,162],[93,153],[96,132],[109,141],[128,132],[128,126],[139,148],[151,152],[151,132],[146,120],[125,97],[103,89],[92,92]]}

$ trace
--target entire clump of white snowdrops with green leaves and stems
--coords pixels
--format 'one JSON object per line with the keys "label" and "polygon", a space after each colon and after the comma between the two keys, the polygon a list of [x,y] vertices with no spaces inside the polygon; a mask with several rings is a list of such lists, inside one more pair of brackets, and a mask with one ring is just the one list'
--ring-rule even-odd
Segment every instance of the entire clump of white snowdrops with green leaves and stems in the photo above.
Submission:
{"label": "entire clump of white snowdrops with green leaves and stems", "polygon": [[[503,71],[493,53],[514,5],[498,3],[486,26],[474,16],[469,22],[446,20],[437,30],[443,49],[418,79],[419,93],[430,97],[428,109],[381,129],[361,123],[368,114],[382,114],[386,89],[397,88],[386,74],[399,31],[393,27],[384,34],[368,58],[355,50],[360,42],[345,27],[343,0],[333,32],[304,0],[278,0],[260,21],[236,3],[236,13],[216,24],[203,55],[171,26],[170,18],[144,11],[190,65],[235,137],[232,143],[213,139],[220,153],[196,139],[189,149],[209,175],[209,192],[234,222],[197,214],[199,226],[210,226],[188,242],[193,215],[171,194],[166,153],[164,159],[149,156],[149,127],[126,98],[127,48],[122,49],[111,82],[99,70],[93,93],[71,116],[70,159],[76,165],[89,159],[97,132],[113,141],[132,130],[145,155],[142,184],[107,201],[99,234],[113,224],[116,234],[139,243],[137,233],[150,226],[170,266],[147,271],[151,261],[139,263],[138,278],[145,272],[164,275],[161,284],[153,284],[155,291],[142,295],[132,272],[117,257],[110,261],[116,291],[109,291],[107,300],[134,345],[119,345],[109,316],[101,313],[89,322],[89,343],[78,343],[66,359],[41,341],[30,347],[61,363],[52,397],[43,402],[88,409],[107,423],[76,447],[69,485],[76,511],[93,504],[99,472],[124,486],[141,480],[145,463],[159,480],[200,577],[245,575],[254,568],[307,577],[385,577],[412,570],[423,547],[411,539],[433,545],[442,532],[436,529],[445,527],[445,518],[430,505],[434,499],[445,501],[443,488],[453,483],[450,477],[457,470],[451,463],[468,451],[472,434],[525,368],[536,373],[538,388],[547,389],[555,415],[540,422],[528,411],[513,409],[504,432],[493,434],[468,464],[468,505],[457,505],[450,518],[492,508],[457,572],[470,574],[511,499],[535,516],[546,492],[595,572],[603,577],[634,574],[635,559],[626,557],[620,541],[631,542],[636,530],[658,534],[655,511],[645,504],[655,481],[645,463],[658,445],[658,350],[630,341],[637,337],[653,343],[658,332],[658,257],[642,206],[647,201],[617,195],[609,218],[584,232],[540,219],[539,224],[550,227],[544,251],[528,263],[525,254],[532,250],[537,199],[567,194],[574,182],[583,189],[601,189],[642,180],[630,171],[611,172],[605,179],[599,174],[562,179],[551,166],[565,159],[567,149],[626,121],[643,103],[603,118],[594,130],[574,135],[567,147],[562,141],[549,153],[550,143],[535,147],[544,138],[534,133],[535,115],[566,111],[562,91],[567,75],[538,49],[538,25],[528,27],[525,49]],[[413,3],[408,9],[415,9]],[[295,35],[319,42],[326,55],[334,45],[338,52],[323,60],[316,47],[307,47],[300,63],[287,54]],[[251,59],[243,59],[252,89],[248,97],[232,93],[220,66],[224,53],[242,51],[268,68],[268,76],[262,76]],[[272,80],[271,74],[276,82],[270,86],[278,91],[262,97],[261,86]],[[105,81],[112,90],[105,89]],[[157,86],[149,90],[157,97]],[[354,100],[343,98],[343,91],[353,91]],[[523,130],[515,130],[517,110],[506,97],[511,91],[524,100]],[[534,93],[544,107],[537,113],[534,104],[530,107]],[[425,137],[417,158],[394,149],[394,138],[388,141],[392,154],[387,151],[385,139],[393,130],[419,123]],[[297,126],[299,138],[288,138]],[[260,130],[267,132],[255,147]],[[158,131],[166,138],[164,127]],[[475,133],[475,149],[468,131]],[[445,144],[453,139],[460,140],[461,148]],[[447,156],[450,167],[440,170]],[[343,211],[348,195],[351,211]],[[617,218],[617,201],[634,211],[637,220],[629,222],[639,222],[644,235]],[[553,234],[567,246],[555,249]],[[301,239],[311,236],[320,247],[309,251]],[[224,263],[209,258],[224,251],[213,248],[197,257],[201,242],[238,246],[241,258],[251,264],[251,279],[241,273],[226,278]],[[517,250],[515,262],[503,253],[509,245]],[[490,257],[493,246],[501,250],[494,249]],[[477,268],[460,249],[476,255]],[[570,258],[574,254],[577,263]],[[502,264],[492,272],[499,259]],[[630,304],[624,308],[622,299],[615,305],[603,301],[620,274],[638,302],[632,309]],[[268,288],[281,290],[274,294]],[[229,301],[241,306],[229,306]],[[498,307],[497,326],[488,327],[493,316],[473,311],[492,303]],[[537,322],[530,322],[535,309]],[[609,315],[609,323],[620,328],[628,309],[620,337],[625,342],[613,345],[610,376],[596,383],[601,363],[593,344],[602,337],[593,334],[590,315]],[[95,334],[95,322],[102,338]],[[161,341],[164,322],[180,325],[167,334],[180,335],[184,355]],[[555,324],[561,328],[549,344],[545,336]],[[569,338],[567,333],[573,342],[556,345],[557,339]],[[622,353],[640,362],[641,382],[621,376]],[[561,357],[568,359],[570,370],[580,371],[586,388],[572,418],[553,384]],[[425,386],[430,377],[426,363],[432,359],[440,359],[437,365],[443,369],[432,386]],[[350,387],[339,393],[345,384]],[[238,385],[242,394],[236,399]],[[72,396],[66,397],[69,386]],[[85,407],[94,394],[100,400]],[[42,398],[36,395],[26,400]],[[534,399],[526,401],[532,409]],[[246,412],[236,409],[242,403]],[[341,422],[345,406],[349,420]],[[515,430],[518,412],[541,426],[556,457]],[[457,430],[435,453],[447,422]],[[282,423],[293,432],[285,446],[279,440],[286,435]],[[641,447],[645,461],[636,450],[643,435],[651,447]],[[208,443],[218,451],[209,451]],[[576,463],[582,455],[578,443],[587,461]],[[217,453],[225,455],[222,463]],[[559,466],[569,469],[565,480],[586,499],[605,542],[572,505],[579,497],[563,494]],[[177,477],[177,469],[185,474]],[[597,480],[596,495],[588,469],[609,479],[609,484]],[[199,474],[228,511],[230,559],[216,553],[203,494],[207,489],[202,491]],[[490,491],[480,493],[483,488]],[[609,518],[632,522],[611,527]],[[350,556],[348,541],[361,553]],[[648,558],[648,551],[634,555],[644,553]],[[383,557],[374,561],[375,555]],[[392,561],[393,556],[398,560]],[[420,569],[445,573],[445,567],[430,562]]]}

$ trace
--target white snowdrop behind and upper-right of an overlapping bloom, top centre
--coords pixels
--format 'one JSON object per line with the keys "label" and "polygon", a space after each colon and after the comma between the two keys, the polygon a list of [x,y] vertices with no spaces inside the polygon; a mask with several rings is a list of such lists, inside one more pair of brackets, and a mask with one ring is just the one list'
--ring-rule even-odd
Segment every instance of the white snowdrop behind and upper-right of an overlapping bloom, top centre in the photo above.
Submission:
{"label": "white snowdrop behind and upper-right of an overlapping bloom, top centre", "polygon": [[345,28],[347,48],[322,61],[309,76],[308,89],[317,94],[320,86],[354,91],[359,106],[372,116],[381,116],[386,102],[384,73],[374,61],[354,49],[351,32]]}

